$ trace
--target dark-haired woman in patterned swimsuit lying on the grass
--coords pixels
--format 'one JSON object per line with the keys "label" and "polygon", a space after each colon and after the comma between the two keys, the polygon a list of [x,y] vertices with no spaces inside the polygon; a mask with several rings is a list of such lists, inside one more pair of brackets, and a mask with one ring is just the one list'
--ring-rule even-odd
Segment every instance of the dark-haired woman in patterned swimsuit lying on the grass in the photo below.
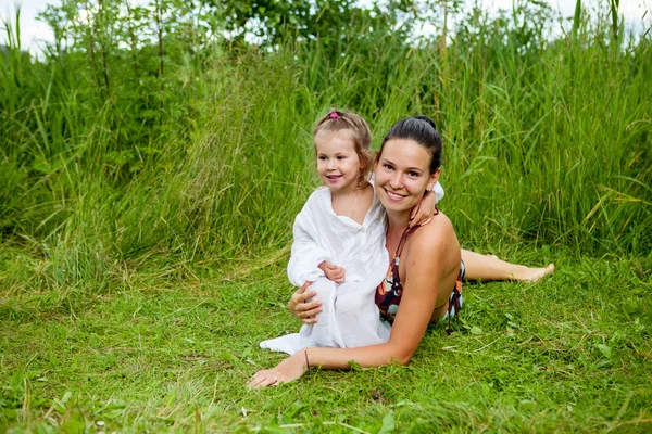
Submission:
{"label": "dark-haired woman in patterned swimsuit lying on the grass", "polygon": [[[390,258],[394,258],[394,267],[390,267],[376,296],[381,311],[393,322],[389,341],[358,348],[304,348],[277,367],[256,372],[250,387],[296,380],[311,367],[349,369],[351,360],[362,367],[409,363],[428,324],[450,311],[453,290],[462,275],[461,259],[465,260],[467,276],[476,279],[531,280],[552,270],[549,266],[522,275],[532,269],[472,252],[463,257],[452,224],[442,213],[425,226],[409,229],[412,208],[439,179],[440,163],[441,138],[435,123],[414,116],[391,127],[374,164],[375,193],[388,218],[386,246]],[[394,289],[399,291],[391,291]],[[290,310],[306,323],[315,322],[317,319],[312,317],[319,312],[318,302],[305,303],[312,295],[304,286],[290,302]]]}

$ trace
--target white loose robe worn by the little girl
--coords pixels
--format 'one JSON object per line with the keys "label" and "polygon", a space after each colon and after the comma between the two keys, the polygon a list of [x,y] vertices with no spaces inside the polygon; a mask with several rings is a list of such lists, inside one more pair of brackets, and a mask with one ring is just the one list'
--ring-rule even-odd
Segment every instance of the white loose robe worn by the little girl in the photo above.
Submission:
{"label": "white loose robe worn by the little girl", "polygon": [[[443,190],[437,183],[437,201]],[[359,225],[333,210],[330,190],[319,188],[308,199],[293,227],[294,243],[288,264],[288,278],[294,286],[313,282],[322,312],[317,323],[303,324],[299,333],[260,343],[261,348],[294,354],[308,347],[352,348],[385,343],[391,327],[381,321],[374,301],[389,264],[385,248],[385,208],[374,193],[364,221]],[[346,280],[337,284],[317,268],[323,261],[346,270]]]}

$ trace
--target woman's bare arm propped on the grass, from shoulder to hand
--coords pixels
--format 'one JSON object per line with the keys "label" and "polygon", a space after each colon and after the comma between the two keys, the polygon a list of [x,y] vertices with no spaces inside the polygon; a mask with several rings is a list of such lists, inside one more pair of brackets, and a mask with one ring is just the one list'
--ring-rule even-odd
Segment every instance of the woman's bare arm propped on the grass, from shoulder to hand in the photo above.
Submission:
{"label": "woman's bare arm propped on the grass, from shoulder to hand", "polygon": [[[450,221],[446,217],[436,220],[437,225],[419,229],[418,232],[424,231],[422,237],[415,237],[403,253],[404,291],[389,342],[359,348],[305,348],[274,369],[256,372],[250,387],[296,380],[308,370],[309,363],[311,368],[325,369],[349,369],[350,361],[362,367],[408,365],[430,322],[440,291],[446,289],[450,294],[460,266],[460,246]],[[438,234],[442,231],[448,233]]]}

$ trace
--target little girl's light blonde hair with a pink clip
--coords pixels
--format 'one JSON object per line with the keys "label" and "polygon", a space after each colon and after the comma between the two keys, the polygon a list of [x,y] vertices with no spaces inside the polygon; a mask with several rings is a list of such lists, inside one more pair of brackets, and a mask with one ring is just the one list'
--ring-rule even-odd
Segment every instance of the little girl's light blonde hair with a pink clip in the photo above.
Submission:
{"label": "little girl's light blonde hair with a pink clip", "polygon": [[331,110],[330,113],[324,115],[313,131],[313,138],[319,131],[342,131],[350,130],[353,133],[353,143],[355,144],[355,153],[360,159],[360,175],[358,176],[358,186],[368,180],[368,175],[374,162],[374,154],[371,150],[372,130],[366,120],[362,116],[351,112],[342,112]]}

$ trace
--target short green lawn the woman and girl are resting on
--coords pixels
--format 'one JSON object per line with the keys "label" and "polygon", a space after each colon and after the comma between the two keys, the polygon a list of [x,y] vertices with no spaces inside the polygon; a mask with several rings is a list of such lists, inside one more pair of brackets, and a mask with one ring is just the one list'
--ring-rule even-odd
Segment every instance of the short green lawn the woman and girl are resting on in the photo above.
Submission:
{"label": "short green lawn the woman and girl are resting on", "polygon": [[2,289],[0,427],[651,432],[651,259],[550,256],[519,253],[555,260],[542,282],[466,284],[454,332],[428,330],[409,367],[256,391],[248,378],[283,358],[259,341],[299,328],[284,260],[125,272],[101,293]]}

